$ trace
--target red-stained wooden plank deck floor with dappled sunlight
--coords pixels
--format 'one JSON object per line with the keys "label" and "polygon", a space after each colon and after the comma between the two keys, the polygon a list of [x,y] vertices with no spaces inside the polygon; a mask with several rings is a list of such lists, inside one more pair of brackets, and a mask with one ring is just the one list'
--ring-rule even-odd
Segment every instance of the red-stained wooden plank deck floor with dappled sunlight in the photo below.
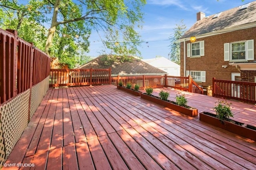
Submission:
{"label": "red-stained wooden plank deck floor with dappled sunlight", "polygon": [[[176,90],[170,92],[174,98]],[[212,110],[218,100],[186,97],[199,112]],[[232,103],[234,119],[256,124],[254,105]],[[14,166],[19,163],[34,167]],[[116,86],[59,88],[48,90],[5,165],[3,169],[253,170],[256,142]]]}

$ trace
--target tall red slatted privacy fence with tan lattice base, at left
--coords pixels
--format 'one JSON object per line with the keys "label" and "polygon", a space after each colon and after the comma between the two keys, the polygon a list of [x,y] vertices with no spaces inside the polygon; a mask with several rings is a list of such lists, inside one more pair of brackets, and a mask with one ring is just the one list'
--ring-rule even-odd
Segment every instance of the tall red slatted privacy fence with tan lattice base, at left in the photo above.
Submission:
{"label": "tall red slatted privacy fence with tan lattice base, at left", "polygon": [[0,29],[0,168],[49,88],[50,57]]}

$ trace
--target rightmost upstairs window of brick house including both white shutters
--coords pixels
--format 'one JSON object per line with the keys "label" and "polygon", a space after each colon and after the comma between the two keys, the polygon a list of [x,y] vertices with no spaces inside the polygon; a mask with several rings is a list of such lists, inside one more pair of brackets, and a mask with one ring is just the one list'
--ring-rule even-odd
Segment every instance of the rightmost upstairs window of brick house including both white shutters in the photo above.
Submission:
{"label": "rightmost upstairs window of brick house including both white shutters", "polygon": [[224,44],[224,61],[254,60],[254,40]]}

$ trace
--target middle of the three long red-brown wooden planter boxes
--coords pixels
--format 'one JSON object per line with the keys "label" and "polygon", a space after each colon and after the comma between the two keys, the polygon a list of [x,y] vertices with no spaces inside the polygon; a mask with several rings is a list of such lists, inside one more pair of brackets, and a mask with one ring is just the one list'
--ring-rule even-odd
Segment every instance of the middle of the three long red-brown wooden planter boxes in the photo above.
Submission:
{"label": "middle of the three long red-brown wooden planter boxes", "polygon": [[156,104],[168,107],[170,109],[173,109],[175,111],[178,111],[178,112],[180,112],[180,113],[182,113],[184,115],[188,115],[190,117],[196,117],[198,115],[198,110],[194,109],[194,108],[188,109],[186,107],[178,106],[178,105],[173,104],[171,102],[167,102],[167,101],[161,100],[161,99],[156,98],[154,96],[148,96],[147,94],[144,94],[144,93],[142,93],[140,97],[144,98],[146,100],[149,100],[151,102],[154,102]]}

